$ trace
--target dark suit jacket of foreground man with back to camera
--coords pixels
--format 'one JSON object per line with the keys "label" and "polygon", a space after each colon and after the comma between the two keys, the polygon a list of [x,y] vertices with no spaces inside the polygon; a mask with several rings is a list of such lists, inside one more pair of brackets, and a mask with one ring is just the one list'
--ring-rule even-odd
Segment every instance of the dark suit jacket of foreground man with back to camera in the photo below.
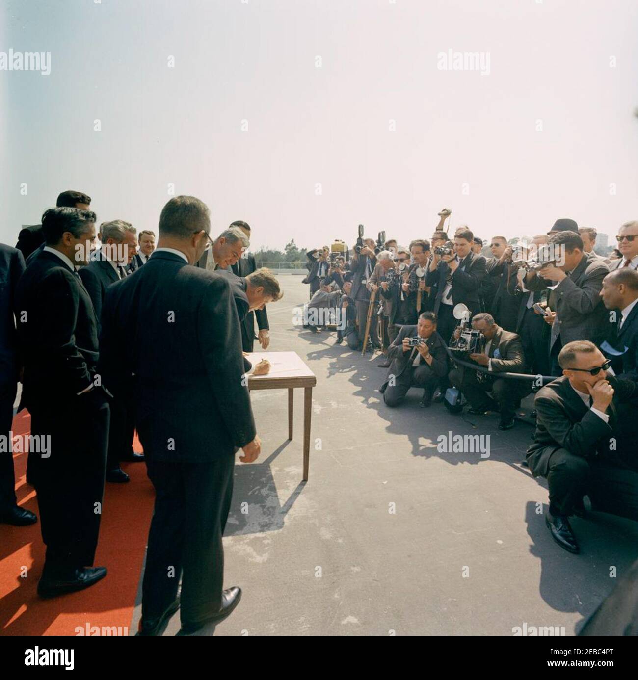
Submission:
{"label": "dark suit jacket of foreground man with back to camera", "polygon": [[133,376],[135,424],[149,460],[209,462],[255,437],[237,305],[227,276],[156,250],[107,290],[101,371]]}

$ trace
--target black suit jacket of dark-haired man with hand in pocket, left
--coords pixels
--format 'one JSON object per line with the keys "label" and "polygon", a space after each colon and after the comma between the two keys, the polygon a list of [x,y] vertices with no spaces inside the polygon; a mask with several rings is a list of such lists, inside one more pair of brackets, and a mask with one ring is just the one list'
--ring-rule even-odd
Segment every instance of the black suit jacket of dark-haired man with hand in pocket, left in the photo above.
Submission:
{"label": "black suit jacket of dark-haired man with hand in pocket, left", "polygon": [[[26,322],[20,322],[26,313]],[[43,251],[18,281],[16,318],[24,366],[22,404],[72,399],[97,372],[97,319],[80,277]]]}

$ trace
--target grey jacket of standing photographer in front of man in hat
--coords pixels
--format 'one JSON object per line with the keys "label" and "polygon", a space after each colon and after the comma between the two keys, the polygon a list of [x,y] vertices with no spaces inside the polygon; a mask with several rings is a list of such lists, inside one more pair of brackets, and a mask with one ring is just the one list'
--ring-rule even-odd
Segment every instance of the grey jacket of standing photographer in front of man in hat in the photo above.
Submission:
{"label": "grey jacket of standing photographer in front of man in hat", "polygon": [[[607,309],[600,296],[609,267],[603,260],[583,254],[579,265],[553,290],[556,321],[550,347],[560,334],[564,345],[574,340],[591,340],[600,345],[607,334]],[[528,290],[543,290],[548,284],[539,276],[525,282]],[[558,330],[558,333],[556,333]]]}

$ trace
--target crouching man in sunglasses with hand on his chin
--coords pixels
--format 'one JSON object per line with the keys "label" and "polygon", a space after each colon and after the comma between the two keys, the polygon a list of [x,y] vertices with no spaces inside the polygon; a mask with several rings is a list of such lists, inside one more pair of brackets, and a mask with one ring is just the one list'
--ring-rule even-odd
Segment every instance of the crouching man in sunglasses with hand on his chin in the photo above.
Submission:
{"label": "crouching man in sunglasses with hand on his chin", "polygon": [[588,479],[599,464],[627,467],[635,450],[618,447],[618,405],[634,398],[638,386],[606,373],[611,362],[588,340],[567,343],[558,362],[563,377],[536,395],[534,443],[527,462],[534,477],[545,477],[550,508],[545,515],[552,538],[571,553],[580,551],[568,517],[582,515]]}

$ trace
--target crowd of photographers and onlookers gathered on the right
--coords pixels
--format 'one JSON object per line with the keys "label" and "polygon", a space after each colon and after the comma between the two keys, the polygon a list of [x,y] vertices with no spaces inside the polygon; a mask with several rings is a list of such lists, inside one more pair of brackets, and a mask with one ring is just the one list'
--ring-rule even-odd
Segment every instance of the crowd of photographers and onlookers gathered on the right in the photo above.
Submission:
{"label": "crowd of photographers and onlookers gathered on the right", "polygon": [[418,388],[421,407],[495,411],[509,430],[534,391],[524,464],[548,479],[552,537],[578,552],[569,517],[583,515],[600,466],[638,471],[638,221],[620,226],[609,258],[595,229],[565,218],[514,246],[493,237],[485,256],[467,226],[448,236],[449,217],[407,248],[360,226],[350,251],[309,251],[305,328],[334,324],[337,344],[380,350],[387,407]]}

